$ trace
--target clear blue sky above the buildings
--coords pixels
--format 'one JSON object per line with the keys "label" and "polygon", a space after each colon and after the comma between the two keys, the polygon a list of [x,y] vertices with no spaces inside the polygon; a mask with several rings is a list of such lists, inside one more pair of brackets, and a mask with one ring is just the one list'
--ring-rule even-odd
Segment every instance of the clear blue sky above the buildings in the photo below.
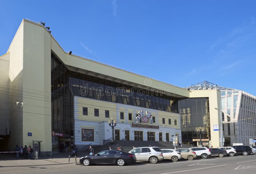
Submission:
{"label": "clear blue sky above the buildings", "polygon": [[64,50],[187,87],[204,79],[256,95],[256,1],[5,1],[0,55],[21,20]]}

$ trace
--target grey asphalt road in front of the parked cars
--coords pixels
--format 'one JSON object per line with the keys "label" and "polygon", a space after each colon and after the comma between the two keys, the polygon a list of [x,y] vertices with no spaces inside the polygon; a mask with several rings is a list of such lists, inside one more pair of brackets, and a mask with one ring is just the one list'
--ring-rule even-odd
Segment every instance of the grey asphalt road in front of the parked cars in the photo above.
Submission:
{"label": "grey asphalt road in front of the parked cars", "polygon": [[56,173],[56,174],[255,174],[256,155],[236,155],[196,158],[192,161],[159,161],[157,164],[137,162],[126,166],[116,165],[75,165],[56,163],[43,165],[9,166],[0,168],[1,174]]}

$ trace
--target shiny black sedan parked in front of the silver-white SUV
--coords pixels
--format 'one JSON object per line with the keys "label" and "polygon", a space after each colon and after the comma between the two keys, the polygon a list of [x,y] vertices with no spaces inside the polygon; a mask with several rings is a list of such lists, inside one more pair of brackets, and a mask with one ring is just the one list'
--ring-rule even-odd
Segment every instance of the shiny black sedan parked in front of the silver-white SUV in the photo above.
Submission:
{"label": "shiny black sedan parked in front of the silver-white SUV", "polygon": [[136,157],[133,154],[121,150],[104,150],[96,155],[83,156],[79,162],[85,166],[90,164],[117,164],[124,166],[128,163],[135,163]]}

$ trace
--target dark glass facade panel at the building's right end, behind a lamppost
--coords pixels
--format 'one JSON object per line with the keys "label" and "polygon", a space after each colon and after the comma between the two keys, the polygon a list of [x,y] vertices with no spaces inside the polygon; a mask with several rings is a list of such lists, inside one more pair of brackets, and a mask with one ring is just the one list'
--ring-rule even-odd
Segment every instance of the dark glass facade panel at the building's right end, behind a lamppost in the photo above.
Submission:
{"label": "dark glass facade panel at the building's right end, behind a lamppost", "polygon": [[193,144],[193,139],[200,138],[200,135],[197,132],[199,127],[203,128],[202,139],[211,139],[209,99],[183,98],[179,100],[178,103],[181,121],[182,141],[185,144],[187,142],[189,142],[189,144]]}

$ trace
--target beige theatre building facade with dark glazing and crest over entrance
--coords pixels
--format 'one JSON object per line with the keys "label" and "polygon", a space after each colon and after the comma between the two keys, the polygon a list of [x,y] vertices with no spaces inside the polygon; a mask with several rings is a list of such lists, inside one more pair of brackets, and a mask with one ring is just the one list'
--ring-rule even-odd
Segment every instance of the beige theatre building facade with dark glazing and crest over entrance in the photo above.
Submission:
{"label": "beige theatre building facade with dark glazing and crest over entrance", "polygon": [[[37,146],[37,141],[41,152],[60,151],[65,145],[69,150],[75,145],[102,145],[112,135],[111,117],[117,122],[115,138],[119,140],[172,141],[177,137],[191,144],[198,139],[195,131],[205,127],[204,143],[220,146],[220,131],[213,130],[213,125],[220,124],[220,113],[214,109],[220,108],[219,90],[183,89],[69,54],[43,25],[26,19],[0,63],[4,91],[0,94],[4,101],[0,141],[6,144],[1,151],[16,144],[33,146],[34,142]],[[184,108],[178,103],[189,98],[206,100],[206,112],[201,113],[207,126],[193,124],[194,138],[183,141],[181,123],[189,113],[181,117]],[[141,110],[143,117],[136,123]],[[152,117],[146,117],[147,111]]]}

